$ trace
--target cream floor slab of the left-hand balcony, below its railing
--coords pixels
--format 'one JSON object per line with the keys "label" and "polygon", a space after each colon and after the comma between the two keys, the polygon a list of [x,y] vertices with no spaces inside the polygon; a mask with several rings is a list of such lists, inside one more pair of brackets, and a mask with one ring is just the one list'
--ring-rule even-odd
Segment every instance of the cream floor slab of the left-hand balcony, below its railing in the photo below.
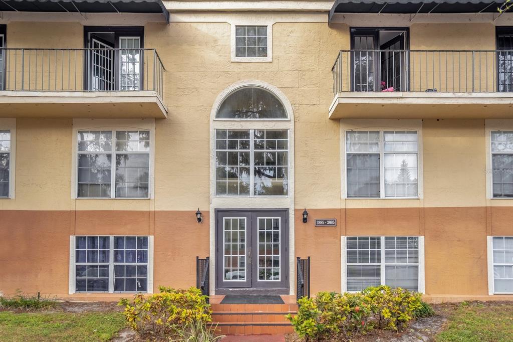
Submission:
{"label": "cream floor slab of the left-hand balcony, below its railing", "polygon": [[0,118],[155,118],[167,108],[155,91],[0,91]]}

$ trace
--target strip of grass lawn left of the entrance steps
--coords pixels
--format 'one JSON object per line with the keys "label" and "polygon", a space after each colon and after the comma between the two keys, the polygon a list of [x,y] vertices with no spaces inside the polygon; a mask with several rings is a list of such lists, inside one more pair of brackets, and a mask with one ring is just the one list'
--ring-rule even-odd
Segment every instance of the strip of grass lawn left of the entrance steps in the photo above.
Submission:
{"label": "strip of grass lawn left of the entrance steps", "polygon": [[125,328],[119,312],[0,312],[0,341],[107,341]]}

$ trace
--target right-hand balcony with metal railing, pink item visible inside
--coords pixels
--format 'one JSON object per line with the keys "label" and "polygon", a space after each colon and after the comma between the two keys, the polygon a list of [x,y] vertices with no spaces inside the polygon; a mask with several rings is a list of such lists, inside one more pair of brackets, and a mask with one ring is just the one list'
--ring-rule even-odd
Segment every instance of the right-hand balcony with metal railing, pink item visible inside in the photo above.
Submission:
{"label": "right-hand balcony with metal railing, pink item visible inside", "polygon": [[330,119],[511,119],[513,50],[343,50]]}

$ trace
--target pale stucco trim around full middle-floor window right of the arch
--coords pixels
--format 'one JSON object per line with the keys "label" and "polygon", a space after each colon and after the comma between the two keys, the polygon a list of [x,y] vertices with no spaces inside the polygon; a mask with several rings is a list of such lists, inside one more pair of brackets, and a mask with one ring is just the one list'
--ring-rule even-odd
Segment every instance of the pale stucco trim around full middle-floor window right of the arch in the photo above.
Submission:
{"label": "pale stucco trim around full middle-floor window right of the arch", "polygon": [[[424,160],[423,160],[423,136],[422,136],[422,120],[413,120],[413,119],[341,119],[340,120],[340,173],[341,173],[341,182],[340,182],[340,194],[342,199],[348,200],[361,200],[363,198],[347,198],[346,193],[346,180],[347,180],[347,170],[346,170],[346,131],[347,130],[415,130],[417,131],[417,142],[418,142],[418,151],[417,151],[417,172],[418,172],[418,197],[384,197],[384,198],[376,198],[372,200],[398,200],[398,199],[406,199],[418,201],[419,199],[424,198]],[[381,175],[382,178],[384,175]]]}

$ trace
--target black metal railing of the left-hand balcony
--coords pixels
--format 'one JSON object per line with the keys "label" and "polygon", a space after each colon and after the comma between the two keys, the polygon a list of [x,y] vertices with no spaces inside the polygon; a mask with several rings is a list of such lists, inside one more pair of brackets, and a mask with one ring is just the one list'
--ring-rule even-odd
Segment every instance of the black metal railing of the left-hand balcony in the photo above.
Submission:
{"label": "black metal railing of the left-hand balcony", "polygon": [[0,90],[138,91],[163,97],[155,49],[0,48]]}

